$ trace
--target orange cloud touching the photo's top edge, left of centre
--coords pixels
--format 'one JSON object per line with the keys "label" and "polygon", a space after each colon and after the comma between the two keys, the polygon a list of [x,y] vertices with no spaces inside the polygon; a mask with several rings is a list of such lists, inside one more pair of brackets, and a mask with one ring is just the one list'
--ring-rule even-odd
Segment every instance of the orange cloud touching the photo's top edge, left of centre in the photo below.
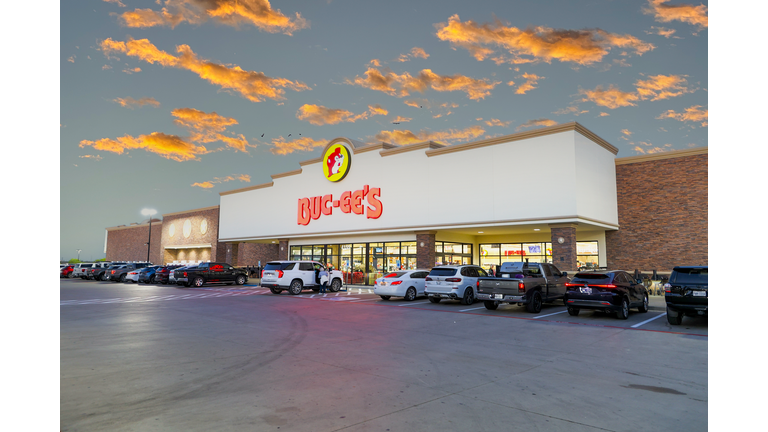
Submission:
{"label": "orange cloud touching the photo's top edge, left of centre", "polygon": [[272,9],[268,0],[165,0],[160,11],[135,9],[120,15],[124,26],[134,28],[175,28],[183,22],[199,25],[208,19],[235,28],[249,24],[269,33],[287,35],[309,27],[309,22],[298,12],[291,19],[279,9]]}

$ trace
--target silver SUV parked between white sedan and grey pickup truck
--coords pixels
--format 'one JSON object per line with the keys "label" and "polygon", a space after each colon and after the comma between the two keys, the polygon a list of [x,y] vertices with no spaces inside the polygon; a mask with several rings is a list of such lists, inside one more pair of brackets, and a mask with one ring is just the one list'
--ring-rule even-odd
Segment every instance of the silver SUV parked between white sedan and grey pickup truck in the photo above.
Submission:
{"label": "silver SUV parked between white sedan and grey pickup truck", "polygon": [[477,299],[477,278],[487,276],[488,273],[476,265],[433,267],[427,276],[424,294],[432,303],[450,299],[469,305]]}

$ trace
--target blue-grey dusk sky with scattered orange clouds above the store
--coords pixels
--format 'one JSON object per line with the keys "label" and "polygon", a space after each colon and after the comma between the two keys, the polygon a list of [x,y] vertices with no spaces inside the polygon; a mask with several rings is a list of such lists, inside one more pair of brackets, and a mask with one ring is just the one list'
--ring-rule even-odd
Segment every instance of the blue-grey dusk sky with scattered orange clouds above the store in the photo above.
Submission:
{"label": "blue-grey dusk sky with scattered orange clouds above the store", "polygon": [[144,208],[217,205],[341,136],[450,145],[577,121],[617,157],[708,146],[707,2],[60,7],[63,260],[103,258],[105,228]]}

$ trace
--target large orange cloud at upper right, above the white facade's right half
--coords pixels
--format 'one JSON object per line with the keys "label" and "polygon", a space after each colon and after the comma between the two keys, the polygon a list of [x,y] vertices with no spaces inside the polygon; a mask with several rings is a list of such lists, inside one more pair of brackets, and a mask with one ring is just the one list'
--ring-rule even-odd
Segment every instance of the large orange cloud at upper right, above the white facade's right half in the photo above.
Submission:
{"label": "large orange cloud at upper right, above the white facade's right half", "polygon": [[[631,35],[609,33],[601,29],[562,30],[538,26],[521,30],[509,27],[500,20],[478,24],[461,22],[458,15],[438,23],[437,37],[455,47],[464,48],[478,61],[490,58],[495,50],[506,50],[512,57],[496,57],[497,63],[529,63],[558,60],[590,65],[602,61],[612,48],[630,49],[642,55],[655,48]],[[528,57],[521,57],[528,56]]]}

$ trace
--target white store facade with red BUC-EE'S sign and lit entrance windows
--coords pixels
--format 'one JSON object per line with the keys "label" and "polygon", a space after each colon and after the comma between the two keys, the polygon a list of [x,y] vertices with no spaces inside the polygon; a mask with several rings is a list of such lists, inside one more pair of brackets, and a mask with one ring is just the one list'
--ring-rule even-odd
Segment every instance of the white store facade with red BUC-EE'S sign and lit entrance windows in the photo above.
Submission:
{"label": "white store facade with red BUC-EE'S sign and lit entrance windows", "polygon": [[578,123],[452,146],[336,138],[298,170],[222,192],[219,241],[276,245],[350,283],[441,264],[604,267],[617,152]]}

